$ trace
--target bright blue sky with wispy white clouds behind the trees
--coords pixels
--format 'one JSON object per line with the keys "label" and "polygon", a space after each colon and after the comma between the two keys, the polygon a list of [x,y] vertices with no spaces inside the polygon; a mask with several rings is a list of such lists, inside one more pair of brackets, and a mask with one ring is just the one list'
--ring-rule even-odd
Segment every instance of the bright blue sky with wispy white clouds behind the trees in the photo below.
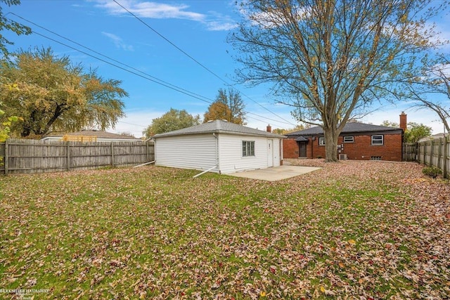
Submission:
{"label": "bright blue sky with wispy white clouds behind the trees", "polygon": [[[267,124],[272,128],[295,127],[297,122],[290,115],[290,107],[276,104],[269,86],[250,88],[236,84],[233,79],[234,70],[239,65],[233,60],[233,49],[226,43],[226,37],[242,18],[235,1],[117,2],[140,20],[113,0],[21,0],[20,6],[3,7],[6,17],[31,27],[35,32],[19,37],[4,32],[15,43],[8,49],[50,46],[57,55],[70,56],[72,63],[96,68],[105,79],[122,80],[122,88],[129,93],[129,98],[123,99],[127,117],[120,119],[115,129],[108,130],[110,132],[128,132],[140,137],[152,119],[160,117],[171,107],[203,117],[210,105],[208,102],[212,102],[218,89],[226,88],[226,84],[233,84],[240,91],[245,110],[250,112],[246,120],[248,126],[258,129],[265,129]],[[166,85],[178,86],[188,93],[197,94],[201,100],[86,53],[155,81],[165,81]],[[410,110],[407,103],[385,105],[361,121],[372,124],[381,124],[384,120],[399,122],[401,111],[408,114],[408,122],[431,126],[433,133],[443,130],[442,123],[432,112]]]}

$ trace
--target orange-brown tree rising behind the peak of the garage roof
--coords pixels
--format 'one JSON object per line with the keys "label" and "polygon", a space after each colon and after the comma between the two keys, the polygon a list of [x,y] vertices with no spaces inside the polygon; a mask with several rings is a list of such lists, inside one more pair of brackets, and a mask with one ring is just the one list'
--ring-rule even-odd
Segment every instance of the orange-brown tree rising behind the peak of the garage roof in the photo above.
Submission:
{"label": "orange-brown tree rising behind the peak of the garage roof", "polygon": [[219,89],[216,100],[203,116],[203,122],[224,119],[228,122],[245,125],[245,104],[240,93],[233,89]]}

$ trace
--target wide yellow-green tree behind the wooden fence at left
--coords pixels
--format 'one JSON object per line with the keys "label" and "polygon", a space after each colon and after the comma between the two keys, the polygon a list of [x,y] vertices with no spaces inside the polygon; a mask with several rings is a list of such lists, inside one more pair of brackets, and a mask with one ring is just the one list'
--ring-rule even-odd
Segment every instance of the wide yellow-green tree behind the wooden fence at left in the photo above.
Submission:
{"label": "wide yellow-green tree behind the wooden fence at left", "polygon": [[103,79],[94,70],[85,73],[68,56],[58,58],[50,48],[14,56],[14,63],[1,62],[0,96],[8,115],[23,118],[11,126],[20,136],[78,131],[86,126],[104,130],[124,117],[121,98],[128,94],[120,88],[121,81]]}

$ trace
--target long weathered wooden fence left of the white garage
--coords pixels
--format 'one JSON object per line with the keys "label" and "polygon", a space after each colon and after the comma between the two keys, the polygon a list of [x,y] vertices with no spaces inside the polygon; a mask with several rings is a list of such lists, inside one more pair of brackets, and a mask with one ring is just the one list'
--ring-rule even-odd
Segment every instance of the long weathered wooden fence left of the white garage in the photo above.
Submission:
{"label": "long weathered wooden fence left of the white garage", "polygon": [[155,160],[155,146],[145,142],[73,142],[8,139],[0,143],[0,174],[43,173],[127,167]]}

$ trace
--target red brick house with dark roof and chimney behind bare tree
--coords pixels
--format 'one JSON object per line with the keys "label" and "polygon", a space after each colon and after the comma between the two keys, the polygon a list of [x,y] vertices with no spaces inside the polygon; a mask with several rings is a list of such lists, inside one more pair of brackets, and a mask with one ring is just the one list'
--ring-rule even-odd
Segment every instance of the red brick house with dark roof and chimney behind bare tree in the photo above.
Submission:
{"label": "red brick house with dark roof and chimney behind bare tree", "polygon": [[[340,159],[403,160],[403,133],[406,115],[400,115],[400,128],[350,122],[345,124],[338,138]],[[323,158],[325,138],[319,126],[285,134],[284,158]]]}

